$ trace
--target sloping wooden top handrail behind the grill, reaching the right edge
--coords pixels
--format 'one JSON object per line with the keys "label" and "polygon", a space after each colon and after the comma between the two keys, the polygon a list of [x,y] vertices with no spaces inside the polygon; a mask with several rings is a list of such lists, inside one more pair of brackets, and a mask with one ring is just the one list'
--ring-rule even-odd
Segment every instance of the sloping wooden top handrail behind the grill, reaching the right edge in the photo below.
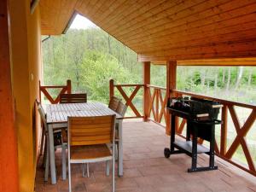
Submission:
{"label": "sloping wooden top handrail behind the grill, reaching the right edge", "polygon": [[215,102],[221,102],[223,104],[226,105],[236,105],[238,107],[242,107],[242,108],[252,108],[252,109],[256,109],[256,105],[251,105],[251,104],[247,104],[247,103],[243,103],[243,102],[232,102],[230,100],[225,100],[225,99],[220,99],[218,97],[212,97],[212,96],[204,96],[204,95],[200,95],[200,94],[196,94],[193,92],[187,92],[187,91],[183,91],[183,90],[172,90],[173,93],[178,93],[178,94],[183,94],[186,96],[195,96],[197,98],[200,99],[209,99]]}

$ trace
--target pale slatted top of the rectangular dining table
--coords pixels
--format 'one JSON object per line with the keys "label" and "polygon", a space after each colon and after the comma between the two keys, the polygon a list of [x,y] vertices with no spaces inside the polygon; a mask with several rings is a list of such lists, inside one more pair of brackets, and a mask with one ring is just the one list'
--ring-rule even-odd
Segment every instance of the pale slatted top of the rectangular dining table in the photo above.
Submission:
{"label": "pale slatted top of the rectangular dining table", "polygon": [[115,113],[101,102],[49,104],[46,106],[46,114],[48,124],[67,123],[67,117],[93,117],[115,114],[116,119],[123,118],[119,113]]}

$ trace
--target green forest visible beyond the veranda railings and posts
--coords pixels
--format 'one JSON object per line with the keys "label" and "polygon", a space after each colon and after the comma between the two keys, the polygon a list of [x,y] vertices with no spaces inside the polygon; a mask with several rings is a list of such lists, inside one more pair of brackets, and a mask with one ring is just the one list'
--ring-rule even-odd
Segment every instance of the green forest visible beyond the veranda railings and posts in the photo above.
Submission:
{"label": "green forest visible beyond the veranda railings and posts", "polygon": [[[65,35],[46,38],[42,37],[45,85],[62,85],[71,79],[73,92],[86,92],[89,101],[108,103],[109,79],[114,79],[115,84],[142,83],[142,64],[137,54],[100,28],[69,29]],[[151,65],[151,84],[166,86],[165,65]],[[177,89],[256,105],[256,67],[178,66]],[[57,91],[52,94],[57,95]],[[142,97],[143,91],[139,91],[133,100],[139,110]],[[241,121],[250,113],[237,110]],[[236,130],[230,120],[228,123],[230,144]],[[256,159],[255,133],[253,127],[247,143]],[[246,162],[241,147],[235,158]]]}

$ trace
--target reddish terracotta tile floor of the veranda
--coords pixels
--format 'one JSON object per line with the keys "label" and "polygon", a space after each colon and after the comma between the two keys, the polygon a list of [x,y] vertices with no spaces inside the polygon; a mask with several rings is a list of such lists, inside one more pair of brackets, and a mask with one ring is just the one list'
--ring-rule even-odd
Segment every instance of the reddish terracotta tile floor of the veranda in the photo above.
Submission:
{"label": "reddish terracotta tile floor of the veranda", "polygon": [[[169,137],[163,127],[152,122],[129,120],[124,125],[124,177],[116,177],[117,192],[245,192],[256,191],[256,177],[241,172],[224,160],[216,159],[218,171],[188,173],[191,159],[185,154],[166,159],[163,149]],[[201,154],[199,165],[207,165]],[[44,170],[38,167],[36,192],[67,192],[67,181],[61,180],[61,153],[56,152],[55,185],[44,183]],[[110,191],[111,177],[105,176],[105,164],[91,164],[90,177],[82,177],[81,166],[72,166],[74,192]],[[50,180],[50,179],[49,179]]]}

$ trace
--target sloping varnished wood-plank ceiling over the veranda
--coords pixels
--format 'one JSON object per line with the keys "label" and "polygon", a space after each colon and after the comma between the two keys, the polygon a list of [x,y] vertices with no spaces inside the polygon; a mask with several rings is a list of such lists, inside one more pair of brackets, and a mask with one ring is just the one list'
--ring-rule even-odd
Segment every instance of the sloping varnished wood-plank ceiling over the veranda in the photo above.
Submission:
{"label": "sloping varnished wood-plank ceiling over the veranda", "polygon": [[40,7],[42,34],[61,34],[77,12],[139,61],[256,57],[256,0],[41,0]]}

